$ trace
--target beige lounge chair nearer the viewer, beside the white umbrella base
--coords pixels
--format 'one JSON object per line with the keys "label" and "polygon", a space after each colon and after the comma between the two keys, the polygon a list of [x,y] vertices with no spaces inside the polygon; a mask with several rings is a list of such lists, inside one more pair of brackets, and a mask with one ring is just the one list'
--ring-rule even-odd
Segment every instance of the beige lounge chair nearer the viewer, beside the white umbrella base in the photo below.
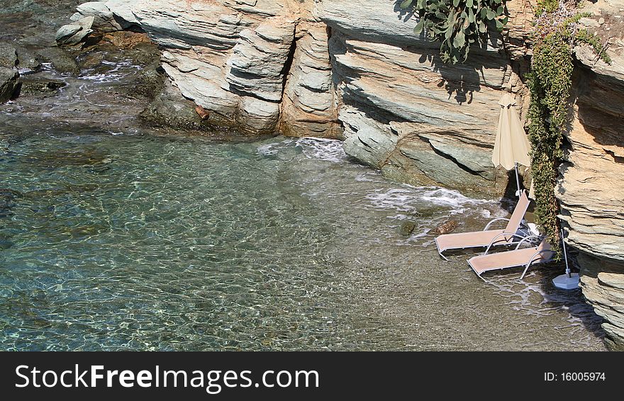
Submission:
{"label": "beige lounge chair nearer the viewer, beside the white umbrella base", "polygon": [[[518,243],[518,246],[513,251],[498,252],[496,254],[487,254],[486,251],[486,254],[484,255],[474,256],[468,259],[468,264],[472,270],[474,270],[474,273],[477,273],[477,276],[479,277],[481,277],[481,274],[486,271],[525,266],[522,276],[520,276],[521,280],[524,278],[526,272],[532,264],[550,261],[552,256],[555,254],[555,252],[550,249],[550,244],[546,241],[546,239],[542,239],[542,242],[540,242],[537,247],[520,249],[520,245],[532,239],[539,239],[539,237],[526,237]],[[481,277],[481,279],[484,278]]]}

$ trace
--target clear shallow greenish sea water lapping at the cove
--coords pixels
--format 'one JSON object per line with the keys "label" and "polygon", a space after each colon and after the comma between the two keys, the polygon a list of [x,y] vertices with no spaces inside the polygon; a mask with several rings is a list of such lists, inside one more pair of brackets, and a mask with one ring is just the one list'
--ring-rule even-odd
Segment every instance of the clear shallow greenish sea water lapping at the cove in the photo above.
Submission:
{"label": "clear shallow greenish sea water lapping at the cove", "polygon": [[440,260],[429,230],[498,203],[337,141],[48,130],[0,142],[0,200],[0,349],[603,349],[558,271]]}

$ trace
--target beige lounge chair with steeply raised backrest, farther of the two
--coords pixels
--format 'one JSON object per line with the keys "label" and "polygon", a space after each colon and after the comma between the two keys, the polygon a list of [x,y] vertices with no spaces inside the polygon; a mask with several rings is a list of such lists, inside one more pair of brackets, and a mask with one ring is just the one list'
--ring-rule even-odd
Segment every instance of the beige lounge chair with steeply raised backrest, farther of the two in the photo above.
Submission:
{"label": "beige lounge chair with steeply raised backrest, farther of the two", "polygon": [[[487,223],[483,231],[459,232],[457,234],[445,234],[435,238],[435,246],[438,247],[438,254],[443,259],[448,260],[442,254],[448,249],[465,249],[477,247],[491,247],[496,245],[512,245],[517,244],[527,235],[518,234],[518,229],[529,207],[530,200],[526,195],[526,191],[522,191],[520,200],[516,208],[511,214],[511,218],[498,218]],[[507,227],[504,230],[489,230],[492,223],[496,221],[507,221]]]}

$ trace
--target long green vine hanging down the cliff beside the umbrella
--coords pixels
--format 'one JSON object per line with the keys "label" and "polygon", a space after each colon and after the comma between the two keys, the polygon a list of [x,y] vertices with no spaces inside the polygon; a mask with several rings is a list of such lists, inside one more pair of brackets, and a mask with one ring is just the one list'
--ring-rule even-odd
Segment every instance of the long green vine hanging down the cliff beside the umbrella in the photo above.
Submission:
{"label": "long green vine hanging down the cliff beside the umbrella", "polygon": [[584,14],[574,0],[542,0],[533,32],[533,59],[528,76],[530,90],[529,141],[535,189],[535,220],[560,252],[559,203],[555,196],[557,167],[563,156],[562,140],[567,130],[572,88],[572,50],[587,43],[611,63],[595,35],[579,27]]}

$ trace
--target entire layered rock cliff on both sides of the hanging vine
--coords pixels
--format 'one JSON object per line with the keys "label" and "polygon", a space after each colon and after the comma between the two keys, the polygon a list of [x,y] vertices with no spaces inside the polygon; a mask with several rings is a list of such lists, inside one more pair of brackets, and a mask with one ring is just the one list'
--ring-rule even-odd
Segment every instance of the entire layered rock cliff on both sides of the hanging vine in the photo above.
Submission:
{"label": "entire layered rock cliff on both sides of the hanging vine", "polygon": [[[172,86],[215,125],[243,132],[341,137],[345,150],[386,176],[500,196],[491,166],[502,94],[516,94],[530,50],[531,0],[469,62],[442,64],[394,0],[110,0],[79,6],[103,31],[140,28],[162,49]],[[624,29],[617,1],[584,23],[606,33],[612,65],[576,50],[574,118],[558,196],[568,243],[581,251],[583,290],[624,344]],[[165,102],[166,103],[166,102]],[[159,106],[160,107],[160,106]],[[160,108],[153,108],[159,113]],[[605,174],[608,172],[608,174]],[[511,187],[515,183],[511,184]]]}

